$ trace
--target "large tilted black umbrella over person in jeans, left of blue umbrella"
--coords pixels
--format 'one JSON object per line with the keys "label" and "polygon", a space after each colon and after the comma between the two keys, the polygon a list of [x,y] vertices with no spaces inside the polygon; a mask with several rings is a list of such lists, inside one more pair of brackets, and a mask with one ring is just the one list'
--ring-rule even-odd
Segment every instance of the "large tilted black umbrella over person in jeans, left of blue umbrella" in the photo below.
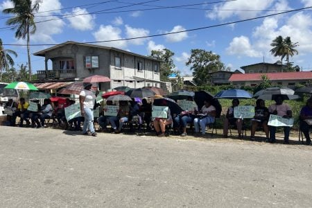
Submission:
{"label": "large tilted black umbrella over person in jeans, left of blue umbrella", "polygon": [[198,105],[198,110],[202,108],[204,105],[204,101],[209,100],[211,105],[216,107],[216,118],[220,118],[220,114],[222,112],[222,106],[220,105],[219,101],[214,98],[209,92],[205,91],[198,91],[195,92],[194,101]]}

